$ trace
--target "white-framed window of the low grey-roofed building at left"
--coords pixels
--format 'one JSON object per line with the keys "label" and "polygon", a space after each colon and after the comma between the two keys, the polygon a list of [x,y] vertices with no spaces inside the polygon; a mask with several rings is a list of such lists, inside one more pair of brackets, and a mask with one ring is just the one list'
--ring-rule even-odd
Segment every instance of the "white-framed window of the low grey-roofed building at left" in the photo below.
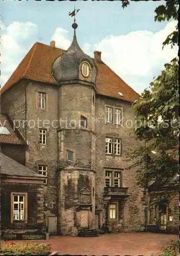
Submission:
{"label": "white-framed window of the low grey-roofed building at left", "polygon": [[25,197],[13,196],[13,220],[23,221],[25,219]]}

